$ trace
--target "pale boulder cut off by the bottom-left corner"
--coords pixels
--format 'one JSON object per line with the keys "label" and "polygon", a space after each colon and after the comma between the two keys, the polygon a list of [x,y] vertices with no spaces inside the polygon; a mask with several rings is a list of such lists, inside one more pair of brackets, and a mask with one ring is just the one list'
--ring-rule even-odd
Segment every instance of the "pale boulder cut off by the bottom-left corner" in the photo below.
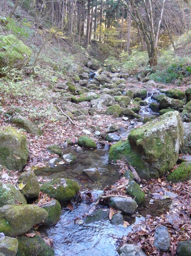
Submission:
{"label": "pale boulder cut off by the bottom-left corner", "polygon": [[15,256],[18,249],[18,241],[16,238],[9,236],[1,236],[0,238],[0,255]]}

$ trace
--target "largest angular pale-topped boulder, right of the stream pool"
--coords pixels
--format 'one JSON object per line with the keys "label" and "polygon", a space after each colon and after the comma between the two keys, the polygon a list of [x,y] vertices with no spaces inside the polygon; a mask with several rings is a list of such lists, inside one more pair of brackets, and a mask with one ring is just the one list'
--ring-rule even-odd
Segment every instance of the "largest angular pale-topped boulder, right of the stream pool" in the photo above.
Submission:
{"label": "largest angular pale-topped boulder, right of the stream pool", "polygon": [[183,125],[178,111],[168,112],[131,130],[128,140],[130,146],[141,154],[143,162],[150,165],[149,176],[162,176],[174,167],[184,143]]}

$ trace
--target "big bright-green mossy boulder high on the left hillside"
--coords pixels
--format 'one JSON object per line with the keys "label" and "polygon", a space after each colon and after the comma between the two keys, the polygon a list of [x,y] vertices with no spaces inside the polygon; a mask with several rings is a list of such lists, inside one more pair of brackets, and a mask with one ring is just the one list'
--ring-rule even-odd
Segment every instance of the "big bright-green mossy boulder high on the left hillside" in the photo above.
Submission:
{"label": "big bright-green mossy boulder high on the left hillside", "polygon": [[30,49],[16,36],[0,36],[0,69],[21,68],[30,55]]}

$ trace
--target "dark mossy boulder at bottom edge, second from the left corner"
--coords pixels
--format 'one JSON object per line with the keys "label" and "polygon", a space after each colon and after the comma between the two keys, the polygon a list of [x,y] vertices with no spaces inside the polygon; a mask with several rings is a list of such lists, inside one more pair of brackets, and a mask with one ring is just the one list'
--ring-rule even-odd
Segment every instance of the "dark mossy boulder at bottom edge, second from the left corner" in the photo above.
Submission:
{"label": "dark mossy boulder at bottom edge, second from the left corner", "polygon": [[16,256],[54,256],[54,249],[46,245],[41,236],[19,236]]}

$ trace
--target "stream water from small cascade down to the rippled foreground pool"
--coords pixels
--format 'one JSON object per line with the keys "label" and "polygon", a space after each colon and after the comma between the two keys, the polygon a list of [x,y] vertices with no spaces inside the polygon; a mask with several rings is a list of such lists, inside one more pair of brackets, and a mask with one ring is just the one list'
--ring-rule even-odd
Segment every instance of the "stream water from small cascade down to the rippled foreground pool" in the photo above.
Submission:
{"label": "stream water from small cascade down to the rippled foreground pool", "polygon": [[[151,102],[154,102],[151,96],[152,93],[148,93],[148,97],[145,99],[148,105],[141,107],[141,116],[154,115],[148,107]],[[137,121],[135,121],[135,125],[136,122]],[[128,130],[121,128],[120,136],[126,137],[130,129],[135,125],[129,125]],[[71,152],[77,157],[77,163],[72,165],[58,165],[54,168],[44,167],[38,169],[36,175],[40,174],[47,176],[47,178],[72,178],[78,181],[83,191],[87,191],[87,189],[91,190],[95,198],[102,193],[102,191],[100,191],[101,189],[106,186],[111,186],[116,180],[119,180],[120,175],[117,165],[108,163],[109,145],[100,146],[98,143],[98,148],[94,151],[83,149],[77,153],[75,147],[69,147],[63,151],[64,154],[68,152]],[[89,168],[98,168],[96,175],[90,178],[83,172],[84,169]],[[83,193],[83,191],[81,193]],[[59,222],[52,226],[41,226],[39,231],[53,239],[55,255],[119,255],[116,252],[118,247],[116,242],[118,238],[127,235],[132,230],[133,225],[141,223],[141,220],[144,220],[146,214],[154,215],[156,209],[160,210],[161,208],[161,211],[163,211],[163,209],[168,207],[168,205],[164,205],[163,208],[163,205],[160,206],[155,203],[154,205],[150,204],[148,200],[150,199],[145,200],[145,203],[139,208],[141,215],[133,219],[126,216],[126,218],[128,218],[127,221],[130,223],[128,227],[112,225],[109,220],[101,220],[91,224],[83,223],[83,220],[81,220],[82,216],[91,209],[94,203],[87,203],[82,200],[81,203],[73,204],[73,211],[67,209],[67,205],[62,205]],[[154,209],[154,211],[152,211],[152,209]]]}

